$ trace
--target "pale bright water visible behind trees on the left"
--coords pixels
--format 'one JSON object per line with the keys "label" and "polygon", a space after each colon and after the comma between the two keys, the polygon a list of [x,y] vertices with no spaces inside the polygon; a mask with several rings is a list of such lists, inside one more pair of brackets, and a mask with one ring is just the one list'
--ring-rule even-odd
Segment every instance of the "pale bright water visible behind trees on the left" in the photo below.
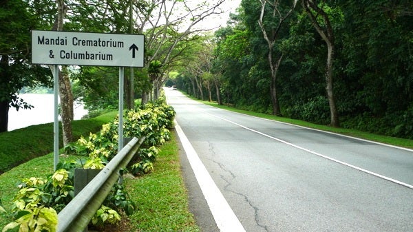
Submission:
{"label": "pale bright water visible behind trees on the left", "polygon": [[[53,123],[54,121],[54,95],[53,94],[20,94],[26,103],[33,105],[32,109],[19,109],[14,107],[9,109],[8,131],[38,125],[43,123]],[[87,114],[83,105],[74,106],[74,119],[81,119]]]}

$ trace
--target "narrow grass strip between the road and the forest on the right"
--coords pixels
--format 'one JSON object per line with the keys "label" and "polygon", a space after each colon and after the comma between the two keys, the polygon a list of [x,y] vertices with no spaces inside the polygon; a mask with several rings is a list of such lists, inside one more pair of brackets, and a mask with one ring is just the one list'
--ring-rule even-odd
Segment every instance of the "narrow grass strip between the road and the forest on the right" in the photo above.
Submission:
{"label": "narrow grass strip between the road and the forest on the right", "polygon": [[[198,100],[199,101],[199,100]],[[405,139],[405,138],[395,138],[395,137],[390,137],[390,136],[381,136],[378,134],[371,134],[368,132],[363,132],[363,131],[357,131],[355,129],[346,129],[346,128],[337,128],[337,127],[330,127],[327,125],[317,125],[314,123],[308,123],[306,121],[303,120],[296,120],[296,119],[292,119],[292,118],[284,118],[284,117],[279,117],[279,116],[273,116],[270,114],[262,114],[262,113],[257,113],[257,112],[250,112],[250,111],[246,111],[246,110],[242,110],[242,109],[236,109],[234,107],[229,107],[226,105],[218,105],[218,103],[211,103],[208,101],[200,101],[206,105],[211,105],[213,107],[218,107],[220,109],[226,109],[226,110],[230,110],[232,112],[237,112],[240,114],[247,114],[250,116],[255,116],[255,117],[259,117],[259,118],[266,118],[269,120],[276,120],[282,123],[290,123],[293,125],[299,125],[302,127],[309,127],[309,128],[313,128],[313,129],[319,129],[322,131],[330,131],[333,133],[337,133],[337,134],[343,134],[346,136],[352,136],[352,137],[356,137],[356,138],[363,138],[366,140],[372,140],[375,142],[379,142],[379,143],[385,143],[388,145],[394,145],[394,146],[398,146],[398,147],[405,147],[405,148],[409,148],[409,149],[413,149],[413,140],[410,139]]]}

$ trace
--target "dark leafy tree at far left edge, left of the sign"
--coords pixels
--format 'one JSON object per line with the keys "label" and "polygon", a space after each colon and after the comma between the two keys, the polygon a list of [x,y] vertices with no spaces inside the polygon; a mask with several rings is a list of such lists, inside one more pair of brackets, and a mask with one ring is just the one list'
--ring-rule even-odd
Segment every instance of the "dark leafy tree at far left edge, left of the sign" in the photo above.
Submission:
{"label": "dark leafy tree at far left edge, left of the sign", "polygon": [[[0,132],[8,131],[8,111],[31,108],[17,92],[23,87],[50,86],[50,73],[30,65],[30,30],[50,23],[48,2],[0,2]],[[42,25],[43,24],[43,25]]]}

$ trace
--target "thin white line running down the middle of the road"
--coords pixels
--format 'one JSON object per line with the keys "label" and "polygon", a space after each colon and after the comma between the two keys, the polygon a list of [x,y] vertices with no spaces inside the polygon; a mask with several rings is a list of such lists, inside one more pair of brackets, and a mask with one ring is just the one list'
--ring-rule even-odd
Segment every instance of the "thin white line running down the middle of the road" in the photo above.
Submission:
{"label": "thin white line running down the middle of the road", "polygon": [[[240,125],[240,124],[238,124],[238,123],[235,123],[235,122],[233,122],[233,121],[231,121],[231,120],[222,118],[222,117],[220,117],[220,116],[216,116],[216,115],[210,114],[210,113],[205,112],[205,111],[204,111],[204,113],[205,113],[205,114],[209,114],[209,115],[211,115],[211,116],[213,116],[213,117],[215,117],[215,118],[220,118],[221,120],[224,120],[224,121],[226,121],[226,122],[228,122],[228,123],[232,123],[233,125],[237,125],[238,127],[242,127],[242,128],[244,128],[244,129],[248,129],[249,131],[253,131],[254,133],[260,134],[260,135],[262,135],[262,136],[266,136],[266,137],[271,138],[271,139],[273,139],[273,140],[277,140],[277,141],[279,141],[279,142],[281,142],[281,143],[284,143],[284,144],[286,144],[286,145],[289,145],[289,146],[291,146],[291,147],[295,147],[295,148],[297,148],[297,149],[301,149],[301,150],[303,150],[303,151],[307,151],[307,152],[310,153],[310,154],[314,154],[314,155],[316,155],[316,156],[320,156],[320,157],[322,157],[322,158],[326,158],[326,159],[331,160],[331,161],[333,161],[333,162],[337,162],[337,163],[339,163],[339,164],[341,164],[341,165],[346,165],[347,167],[351,167],[351,168],[353,168],[353,169],[357,169],[357,170],[359,170],[359,171],[363,171],[363,172],[365,172],[365,173],[369,173],[369,174],[371,174],[371,175],[373,175],[373,176],[377,176],[377,177],[379,177],[379,178],[383,178],[384,180],[389,180],[389,181],[394,182],[394,183],[396,183],[396,184],[401,184],[401,185],[403,185],[404,187],[413,189],[413,185],[407,184],[407,183],[405,183],[405,182],[401,182],[401,181],[399,181],[399,180],[394,180],[394,179],[392,179],[392,178],[388,178],[387,176],[380,175],[379,173],[375,173],[375,172],[372,172],[372,171],[368,171],[367,169],[362,169],[361,167],[357,167],[357,166],[354,166],[354,165],[350,165],[350,164],[347,163],[347,162],[343,162],[343,161],[340,161],[340,160],[336,160],[335,158],[331,158],[331,157],[328,157],[328,156],[324,156],[324,155],[319,154],[319,153],[317,153],[317,152],[315,152],[315,151],[311,151],[311,150],[306,149],[306,148],[304,148],[304,147],[299,147],[299,146],[297,146],[297,145],[294,145],[293,143],[288,143],[288,142],[285,141],[285,140],[282,140],[282,139],[279,139],[279,138],[275,138],[275,137],[270,136],[270,135],[268,135],[268,134],[264,134],[264,133],[262,133],[262,132],[260,132],[260,131],[256,131],[255,129],[251,129],[251,128],[245,127],[244,125]],[[306,128],[306,127],[304,127],[304,128]],[[350,138],[352,138],[352,137],[350,137]],[[399,148],[399,147],[396,147],[396,148]]]}

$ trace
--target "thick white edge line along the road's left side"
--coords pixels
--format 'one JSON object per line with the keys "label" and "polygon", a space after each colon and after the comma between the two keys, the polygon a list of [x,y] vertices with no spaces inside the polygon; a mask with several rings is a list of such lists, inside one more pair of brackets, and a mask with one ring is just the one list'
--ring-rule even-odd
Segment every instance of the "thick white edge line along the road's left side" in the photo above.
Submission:
{"label": "thick white edge line along the road's left side", "polygon": [[207,168],[200,160],[191,143],[189,143],[187,136],[185,136],[184,131],[182,131],[176,120],[175,129],[182,143],[182,147],[184,147],[185,153],[187,154],[195,178],[200,184],[204,198],[207,200],[209,209],[211,210],[218,229],[220,229],[221,232],[245,231],[244,226],[242,226],[240,220],[238,220],[228,202],[226,202],[220,189],[218,189],[217,185],[209,175]]}

